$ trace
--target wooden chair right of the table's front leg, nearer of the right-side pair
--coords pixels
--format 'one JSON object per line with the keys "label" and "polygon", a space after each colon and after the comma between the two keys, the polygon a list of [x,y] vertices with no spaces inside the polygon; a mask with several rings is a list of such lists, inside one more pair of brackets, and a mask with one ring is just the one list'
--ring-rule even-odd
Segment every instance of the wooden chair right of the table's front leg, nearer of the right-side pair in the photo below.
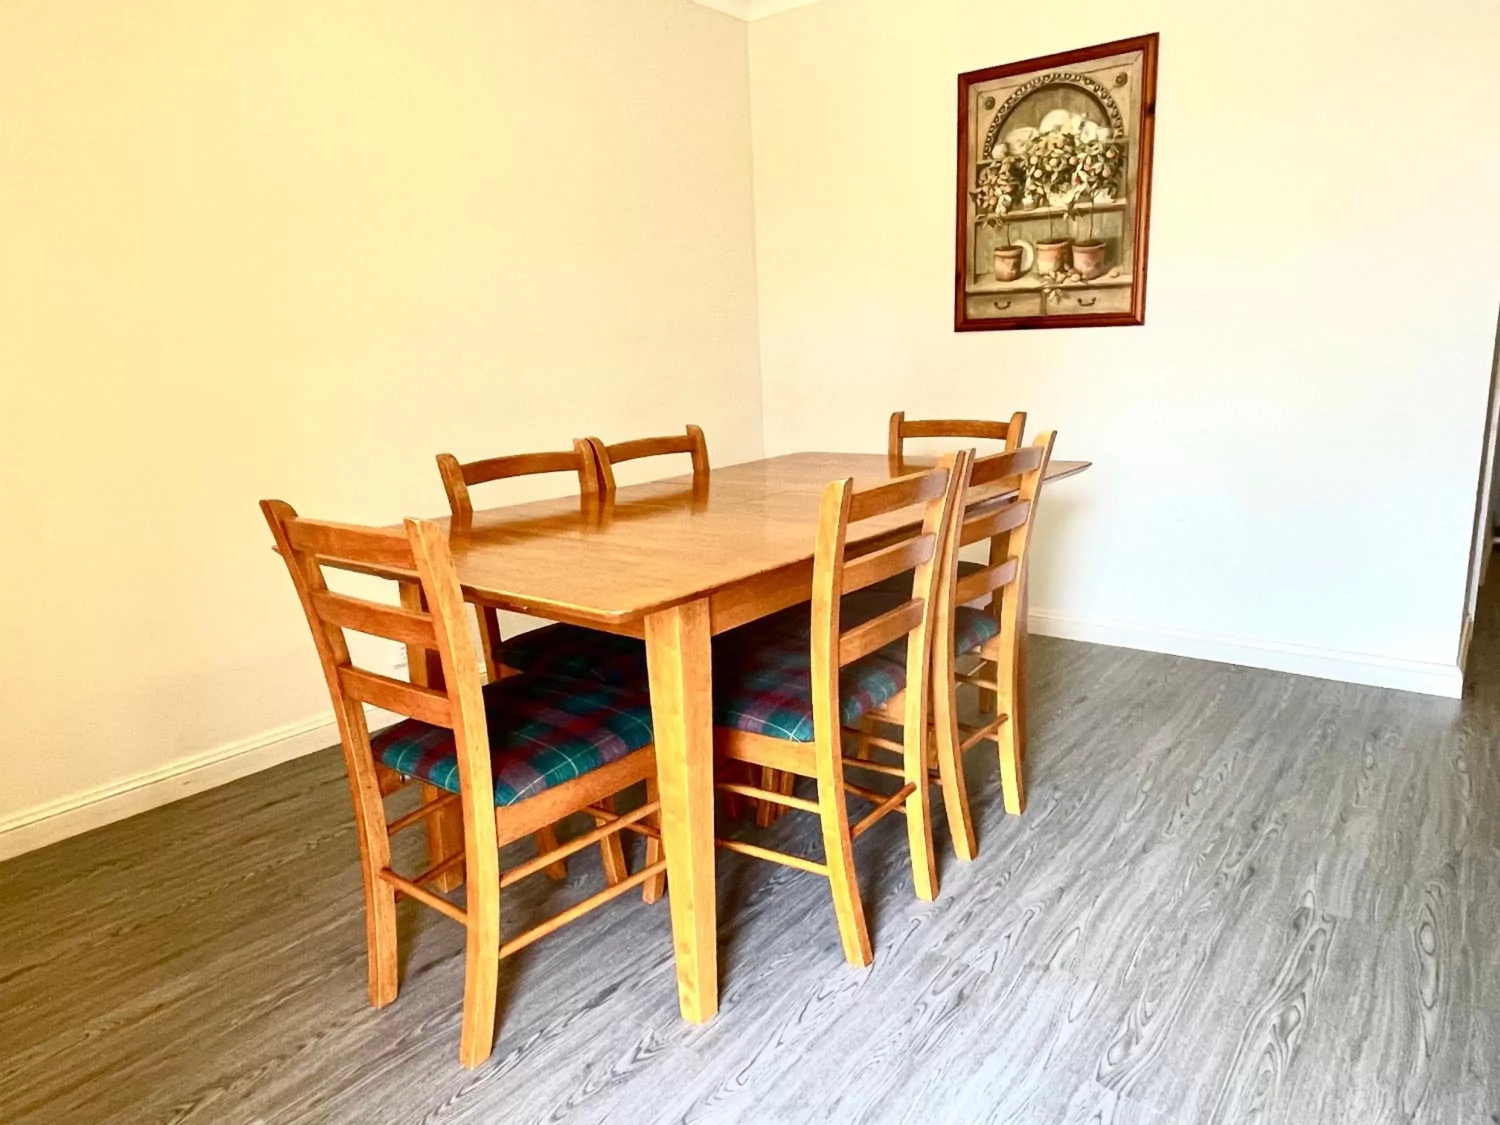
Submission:
{"label": "wooden chair right of the table's front leg, nearer of the right-side pair", "polygon": [[[844,957],[852,964],[868,964],[872,957],[852,843],[876,820],[897,810],[906,814],[916,894],[921,898],[938,894],[927,784],[927,678],[939,561],[951,531],[951,504],[968,464],[964,452],[946,458],[938,470],[860,492],[852,480],[828,484],[818,519],[810,639],[760,639],[741,651],[724,652],[723,660],[716,651],[716,756],[813,778],[818,796],[806,800],[782,792],[780,786],[738,782],[718,782],[716,788],[816,814],[822,820],[824,860],[740,840],[720,840],[718,844],[826,878]],[[860,558],[846,558],[849,525],[916,504],[924,506],[920,531]],[[844,594],[904,572],[912,573],[904,602],[852,628],[840,627]],[[903,726],[903,741],[880,740],[902,754],[900,766],[844,758],[843,734],[870,712]],[[892,777],[898,788],[879,792],[854,784],[846,780],[846,770]],[[849,794],[873,806],[854,825],[849,824]]]}

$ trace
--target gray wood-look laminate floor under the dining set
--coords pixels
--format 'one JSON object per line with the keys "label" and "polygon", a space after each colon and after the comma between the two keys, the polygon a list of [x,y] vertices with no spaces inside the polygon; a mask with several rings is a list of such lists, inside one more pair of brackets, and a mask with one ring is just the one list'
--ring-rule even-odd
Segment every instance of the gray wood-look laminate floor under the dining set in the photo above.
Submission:
{"label": "gray wood-look laminate floor under the dining set", "polygon": [[981,856],[930,904],[902,825],[860,842],[873,969],[822,880],[722,855],[717,1020],[630,896],[507,962],[472,1072],[453,922],[405,903],[366,1006],[314,754],[0,866],[0,1120],[1500,1122],[1496,609],[1462,704],[1038,639],[1030,808],[976,753]]}

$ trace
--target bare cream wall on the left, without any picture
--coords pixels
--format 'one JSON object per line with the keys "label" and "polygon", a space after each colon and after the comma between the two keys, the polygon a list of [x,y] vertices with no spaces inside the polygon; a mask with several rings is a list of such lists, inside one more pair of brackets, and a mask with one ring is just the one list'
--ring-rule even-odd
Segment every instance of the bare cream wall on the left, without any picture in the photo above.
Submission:
{"label": "bare cream wall on the left, without any picture", "polygon": [[687,0],[0,4],[0,834],[327,712],[261,496],[760,453],[747,81]]}

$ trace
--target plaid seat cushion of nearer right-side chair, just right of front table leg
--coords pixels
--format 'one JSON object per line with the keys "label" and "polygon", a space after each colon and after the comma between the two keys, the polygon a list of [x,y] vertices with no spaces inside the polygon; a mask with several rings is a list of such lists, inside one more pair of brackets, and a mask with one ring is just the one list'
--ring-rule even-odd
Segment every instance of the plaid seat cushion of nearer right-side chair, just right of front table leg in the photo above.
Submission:
{"label": "plaid seat cushion of nearer right-side chair, just right of front table leg", "polygon": [[[906,687],[906,664],[872,652],[838,674],[838,711],[856,723]],[[714,724],[792,742],[813,741],[812,652],[806,640],[714,654]]]}

